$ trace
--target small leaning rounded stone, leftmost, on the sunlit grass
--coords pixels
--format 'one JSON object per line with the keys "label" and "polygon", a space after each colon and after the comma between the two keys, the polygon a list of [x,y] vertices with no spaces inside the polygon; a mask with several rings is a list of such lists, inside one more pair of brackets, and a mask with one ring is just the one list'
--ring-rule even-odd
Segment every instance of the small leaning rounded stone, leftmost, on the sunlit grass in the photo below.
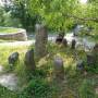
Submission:
{"label": "small leaning rounded stone, leftmost, on the sunlit grass", "polygon": [[19,52],[13,52],[12,54],[10,54],[10,57],[9,57],[9,64],[15,64],[16,63],[16,61],[19,60]]}

